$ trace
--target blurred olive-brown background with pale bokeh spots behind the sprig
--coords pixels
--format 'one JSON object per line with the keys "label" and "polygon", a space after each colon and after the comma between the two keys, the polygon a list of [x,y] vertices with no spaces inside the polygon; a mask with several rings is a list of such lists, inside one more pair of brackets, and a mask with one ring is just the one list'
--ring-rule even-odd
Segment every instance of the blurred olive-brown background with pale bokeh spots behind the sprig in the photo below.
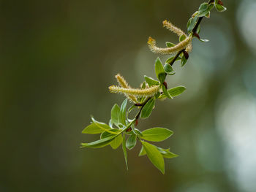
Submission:
{"label": "blurred olive-brown background with pale bokeh spots behind the sprig", "polygon": [[[170,128],[178,158],[162,175],[140,145],[79,148],[90,115],[108,122],[121,95],[108,92],[120,72],[133,87],[154,77],[148,36],[177,42],[162,28],[186,30],[203,1],[0,1],[0,191],[256,191],[256,1],[223,0],[227,12],[203,19],[184,68],[169,87],[187,91],[158,101],[141,130]],[[166,57],[159,55],[162,60]]]}

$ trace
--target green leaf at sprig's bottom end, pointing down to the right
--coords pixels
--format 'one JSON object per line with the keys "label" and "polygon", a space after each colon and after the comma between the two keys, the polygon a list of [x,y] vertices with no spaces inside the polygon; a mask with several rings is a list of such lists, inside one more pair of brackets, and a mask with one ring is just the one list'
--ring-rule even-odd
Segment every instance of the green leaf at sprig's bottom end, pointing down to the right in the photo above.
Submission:
{"label": "green leaf at sprig's bottom end, pointing down to the right", "polygon": [[162,174],[165,174],[165,161],[162,157],[162,154],[157,150],[157,147],[154,145],[149,144],[148,142],[141,141],[143,147],[146,150],[149,160],[151,161],[154,166],[159,169]]}

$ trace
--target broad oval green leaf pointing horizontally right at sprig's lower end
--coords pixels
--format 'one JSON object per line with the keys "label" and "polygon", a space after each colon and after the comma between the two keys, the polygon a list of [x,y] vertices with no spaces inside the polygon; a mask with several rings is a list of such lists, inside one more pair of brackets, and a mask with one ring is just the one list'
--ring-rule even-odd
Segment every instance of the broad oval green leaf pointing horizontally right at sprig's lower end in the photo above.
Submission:
{"label": "broad oval green leaf pointing horizontally right at sprig's lower end", "polygon": [[162,142],[165,139],[169,138],[173,131],[170,131],[167,128],[148,128],[145,131],[142,131],[143,137],[142,139],[145,139],[150,142]]}

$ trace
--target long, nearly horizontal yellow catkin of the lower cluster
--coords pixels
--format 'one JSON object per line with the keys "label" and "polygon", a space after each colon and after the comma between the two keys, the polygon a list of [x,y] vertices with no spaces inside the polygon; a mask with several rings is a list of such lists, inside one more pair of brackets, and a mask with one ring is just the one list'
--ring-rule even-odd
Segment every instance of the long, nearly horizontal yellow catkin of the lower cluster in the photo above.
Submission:
{"label": "long, nearly horizontal yellow catkin of the lower cluster", "polygon": [[159,90],[159,85],[151,86],[150,88],[140,89],[140,88],[120,88],[116,85],[109,87],[111,93],[123,93],[124,95],[131,96],[154,96]]}

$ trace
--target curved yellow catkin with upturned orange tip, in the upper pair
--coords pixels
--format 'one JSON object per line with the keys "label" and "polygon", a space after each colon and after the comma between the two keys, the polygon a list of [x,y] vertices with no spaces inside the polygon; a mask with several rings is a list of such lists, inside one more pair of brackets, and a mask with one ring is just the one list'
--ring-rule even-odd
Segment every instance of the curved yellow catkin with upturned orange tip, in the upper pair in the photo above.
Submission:
{"label": "curved yellow catkin with upturned orange tip, in the upper pair", "polygon": [[149,37],[148,38],[148,47],[149,49],[154,53],[160,53],[160,54],[172,54],[177,53],[180,50],[183,50],[186,48],[189,44],[192,42],[192,37],[189,36],[186,39],[184,39],[182,42],[179,42],[177,45],[173,47],[166,47],[166,48],[160,48],[156,46],[156,40]]}

